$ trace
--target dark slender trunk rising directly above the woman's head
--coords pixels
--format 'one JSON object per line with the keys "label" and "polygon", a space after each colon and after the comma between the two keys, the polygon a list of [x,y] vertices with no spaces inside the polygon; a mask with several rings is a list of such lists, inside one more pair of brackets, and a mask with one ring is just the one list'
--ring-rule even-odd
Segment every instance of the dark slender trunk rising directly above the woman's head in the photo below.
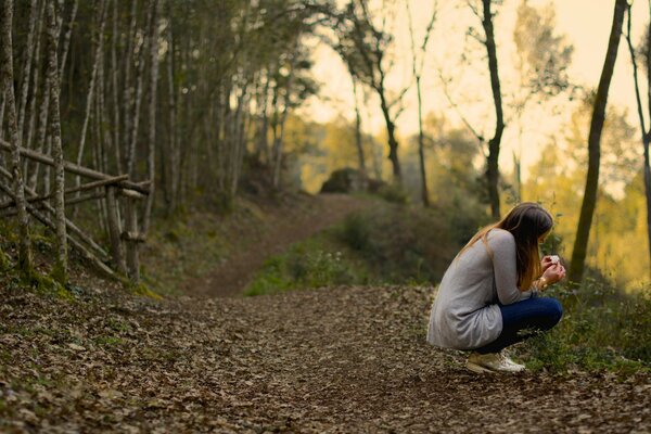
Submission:
{"label": "dark slender trunk rising directly above the woman's head", "polygon": [[495,103],[495,133],[488,141],[488,157],[486,158],[486,181],[488,183],[488,200],[490,202],[490,214],[494,219],[500,218],[499,212],[499,148],[505,129],[503,112],[501,105],[501,90],[499,73],[497,68],[497,50],[495,48],[495,34],[493,29],[493,13],[490,2],[483,0],[484,17],[482,25],[486,34],[486,52],[488,53],[488,69],[490,71],[490,89],[493,90],[493,102]]}

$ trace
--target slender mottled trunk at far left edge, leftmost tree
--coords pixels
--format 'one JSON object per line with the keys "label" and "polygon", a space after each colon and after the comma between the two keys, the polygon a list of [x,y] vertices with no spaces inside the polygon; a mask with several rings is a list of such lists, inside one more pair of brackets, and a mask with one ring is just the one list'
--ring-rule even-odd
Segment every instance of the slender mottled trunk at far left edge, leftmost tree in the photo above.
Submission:
{"label": "slender mottled trunk at far left edge, leftmost tree", "polygon": [[2,4],[0,36],[2,40],[0,52],[0,72],[2,73],[2,89],[7,104],[7,120],[9,136],[12,144],[11,175],[13,177],[13,191],[15,194],[16,209],[18,212],[18,268],[26,273],[31,272],[31,248],[29,243],[29,218],[25,203],[25,189],[21,170],[21,139],[16,118],[16,100],[14,94],[13,76],[13,47],[12,23],[13,0],[4,0]]}

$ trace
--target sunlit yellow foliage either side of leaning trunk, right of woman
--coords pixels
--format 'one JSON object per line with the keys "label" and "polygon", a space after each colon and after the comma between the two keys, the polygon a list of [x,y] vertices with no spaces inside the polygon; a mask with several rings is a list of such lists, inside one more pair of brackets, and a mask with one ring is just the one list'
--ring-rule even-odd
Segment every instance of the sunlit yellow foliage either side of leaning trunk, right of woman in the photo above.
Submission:
{"label": "sunlit yellow foliage either side of leaning trunk, right of woman", "polygon": [[[523,200],[539,201],[556,217],[554,233],[563,240],[554,252],[570,257],[585,186],[585,137],[590,116],[583,101],[567,123],[565,145],[550,142],[523,186]],[[641,156],[626,112],[609,108],[601,141],[599,200],[595,210],[587,264],[609,275],[614,284],[634,289],[649,281],[646,202]],[[631,253],[637,258],[633,260]],[[639,254],[637,252],[643,252]]]}

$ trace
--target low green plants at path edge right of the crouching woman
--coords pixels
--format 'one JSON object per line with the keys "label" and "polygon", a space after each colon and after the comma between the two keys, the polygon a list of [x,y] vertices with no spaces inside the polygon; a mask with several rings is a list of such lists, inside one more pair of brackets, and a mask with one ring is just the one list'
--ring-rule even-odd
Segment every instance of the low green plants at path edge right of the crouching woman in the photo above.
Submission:
{"label": "low green plants at path edge right of the crouching woman", "polygon": [[561,322],[529,340],[532,368],[565,372],[573,369],[631,373],[651,371],[651,289],[626,294],[604,280],[586,279],[578,291],[550,290],[564,306]]}

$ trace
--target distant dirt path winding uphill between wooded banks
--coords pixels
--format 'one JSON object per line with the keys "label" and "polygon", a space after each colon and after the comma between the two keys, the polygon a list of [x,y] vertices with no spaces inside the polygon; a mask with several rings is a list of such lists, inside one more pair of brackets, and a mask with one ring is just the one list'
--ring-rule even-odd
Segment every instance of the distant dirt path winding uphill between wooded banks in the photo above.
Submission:
{"label": "distant dirt path winding uphill between wooded banks", "polygon": [[269,256],[336,225],[370,203],[371,200],[348,194],[319,194],[294,203],[291,213],[286,206],[271,207],[266,210],[265,221],[257,231],[248,230],[243,242],[234,245],[230,257],[207,276],[186,282],[184,293],[207,297],[242,295]]}

